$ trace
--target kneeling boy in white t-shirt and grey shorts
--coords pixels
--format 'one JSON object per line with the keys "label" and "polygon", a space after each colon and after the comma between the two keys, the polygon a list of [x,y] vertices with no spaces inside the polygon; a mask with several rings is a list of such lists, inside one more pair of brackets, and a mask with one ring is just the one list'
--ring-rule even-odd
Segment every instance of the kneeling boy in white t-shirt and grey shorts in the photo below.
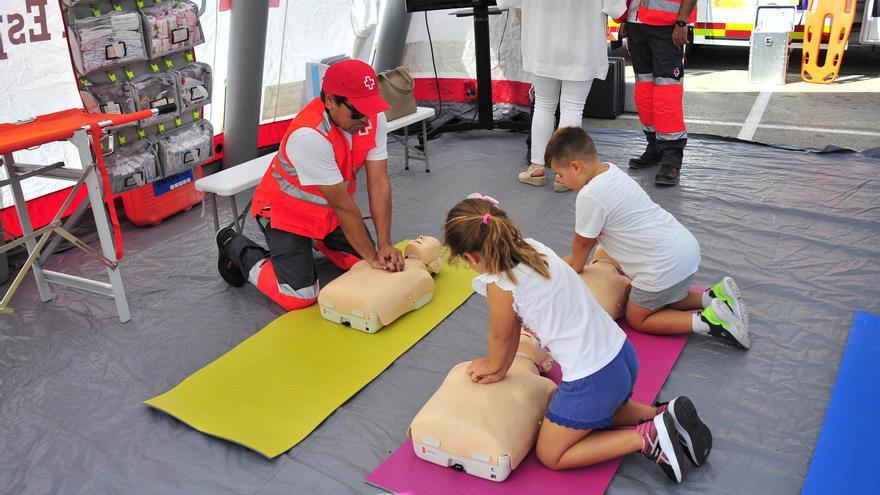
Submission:
{"label": "kneeling boy in white t-shirt and grey shorts", "polygon": [[690,289],[700,266],[696,238],[629,175],[603,163],[583,129],[556,131],[545,155],[563,183],[578,191],[566,261],[580,273],[599,243],[620,263],[632,279],[630,326],[652,334],[709,334],[749,348],[748,314],[733,279],[724,277],[706,291]]}

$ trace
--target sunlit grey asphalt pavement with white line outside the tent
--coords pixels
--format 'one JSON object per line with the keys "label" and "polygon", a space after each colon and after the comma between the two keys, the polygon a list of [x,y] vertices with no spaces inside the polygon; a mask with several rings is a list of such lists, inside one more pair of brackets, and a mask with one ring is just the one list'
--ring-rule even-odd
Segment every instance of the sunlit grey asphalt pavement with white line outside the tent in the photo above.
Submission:
{"label": "sunlit grey asphalt pavement with white line outside the tent", "polygon": [[[762,87],[748,82],[748,48],[697,47],[685,69],[688,131],[811,149],[880,147],[880,50],[850,48],[834,84],[803,82],[800,57],[792,50],[785,85]],[[626,70],[631,80],[629,61]],[[639,128],[635,114],[584,125]]]}

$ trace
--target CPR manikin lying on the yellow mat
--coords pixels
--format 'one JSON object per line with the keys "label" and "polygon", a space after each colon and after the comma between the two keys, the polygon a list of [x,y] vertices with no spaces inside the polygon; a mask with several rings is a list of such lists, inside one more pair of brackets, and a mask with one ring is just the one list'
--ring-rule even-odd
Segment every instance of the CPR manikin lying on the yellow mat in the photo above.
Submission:
{"label": "CPR manikin lying on the yellow mat", "polygon": [[355,263],[345,274],[318,294],[321,316],[368,333],[375,333],[400,316],[431,302],[432,273],[440,271],[440,241],[419,236],[404,249],[405,267],[400,272]]}

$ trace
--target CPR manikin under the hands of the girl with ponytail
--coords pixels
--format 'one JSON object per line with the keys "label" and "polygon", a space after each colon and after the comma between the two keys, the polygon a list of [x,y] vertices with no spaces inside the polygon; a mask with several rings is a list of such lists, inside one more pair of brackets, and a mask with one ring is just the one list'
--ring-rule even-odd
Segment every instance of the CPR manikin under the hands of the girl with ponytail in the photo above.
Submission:
{"label": "CPR manikin under the hands of the girl with ponytail", "polygon": [[556,384],[540,372],[550,356],[526,332],[507,375],[489,385],[473,383],[469,363],[456,365],[409,428],[418,457],[492,481],[504,481],[538,436]]}

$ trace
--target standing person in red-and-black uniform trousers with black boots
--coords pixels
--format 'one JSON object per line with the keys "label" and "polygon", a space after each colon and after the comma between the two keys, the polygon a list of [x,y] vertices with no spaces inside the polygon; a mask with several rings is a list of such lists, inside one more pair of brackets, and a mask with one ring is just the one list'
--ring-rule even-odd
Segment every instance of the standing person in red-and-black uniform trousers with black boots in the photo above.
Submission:
{"label": "standing person in red-and-black uniform trousers with black boots", "polygon": [[682,111],[684,46],[697,0],[629,0],[619,19],[636,74],[636,108],[648,147],[629,161],[631,168],[660,165],[654,182],[678,183],[687,130]]}

